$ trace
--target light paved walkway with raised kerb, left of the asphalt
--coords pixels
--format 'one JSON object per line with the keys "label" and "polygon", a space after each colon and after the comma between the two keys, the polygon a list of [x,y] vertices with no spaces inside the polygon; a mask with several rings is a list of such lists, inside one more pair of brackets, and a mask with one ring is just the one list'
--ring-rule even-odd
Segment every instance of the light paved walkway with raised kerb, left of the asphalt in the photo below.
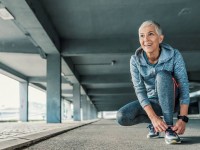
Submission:
{"label": "light paved walkway with raised kerb, left of the asphalt", "polygon": [[61,124],[47,124],[45,122],[0,123],[0,150],[30,145],[95,121],[97,120],[67,121]]}

